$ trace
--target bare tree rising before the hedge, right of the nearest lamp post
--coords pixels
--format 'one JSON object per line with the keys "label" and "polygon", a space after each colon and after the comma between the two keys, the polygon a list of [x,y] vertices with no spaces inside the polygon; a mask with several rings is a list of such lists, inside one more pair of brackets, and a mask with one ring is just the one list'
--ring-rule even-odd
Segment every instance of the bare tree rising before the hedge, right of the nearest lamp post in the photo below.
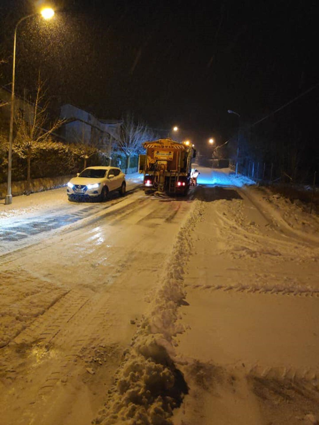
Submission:
{"label": "bare tree rising before the hedge, right of the nearest lamp post", "polygon": [[56,119],[50,123],[48,119],[48,100],[45,100],[44,83],[39,79],[34,105],[29,104],[25,111],[17,111],[15,116],[17,135],[14,140],[14,151],[27,160],[27,181],[31,181],[31,159],[40,143],[51,144],[51,134],[54,133],[65,119]]}

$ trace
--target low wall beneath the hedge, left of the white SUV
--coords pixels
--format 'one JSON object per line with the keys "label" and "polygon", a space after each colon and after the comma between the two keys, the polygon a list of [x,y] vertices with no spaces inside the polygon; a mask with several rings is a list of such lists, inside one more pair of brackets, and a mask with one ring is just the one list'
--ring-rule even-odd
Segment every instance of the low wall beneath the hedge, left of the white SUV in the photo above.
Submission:
{"label": "low wall beneath the hedge, left of the white SUV", "polygon": [[[59,186],[63,186],[68,183],[71,176],[59,176],[59,177],[45,177],[45,178],[34,178],[31,180],[31,192],[41,192],[42,190],[54,189]],[[28,184],[26,180],[23,181],[14,181],[11,185],[11,193],[13,196],[23,195],[28,193]],[[0,184],[0,199],[6,197],[7,194],[7,184]]]}

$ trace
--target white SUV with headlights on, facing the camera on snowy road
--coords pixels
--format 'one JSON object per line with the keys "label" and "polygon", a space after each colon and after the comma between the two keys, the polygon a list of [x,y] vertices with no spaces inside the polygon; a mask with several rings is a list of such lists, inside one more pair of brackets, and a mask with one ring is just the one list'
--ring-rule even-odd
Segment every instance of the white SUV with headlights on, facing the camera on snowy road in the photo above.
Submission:
{"label": "white SUV with headlights on, facing the camera on snowy road", "polygon": [[116,167],[88,167],[76,177],[71,178],[67,186],[69,201],[85,198],[97,198],[99,201],[107,199],[112,191],[119,191],[125,195],[125,174]]}

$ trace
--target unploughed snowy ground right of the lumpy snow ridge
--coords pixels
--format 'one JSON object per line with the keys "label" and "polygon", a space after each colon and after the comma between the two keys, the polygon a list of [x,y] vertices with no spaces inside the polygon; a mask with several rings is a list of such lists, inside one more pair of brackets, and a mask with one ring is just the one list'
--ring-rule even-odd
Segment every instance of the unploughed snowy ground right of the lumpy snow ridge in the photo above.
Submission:
{"label": "unploughed snowy ground right of the lumpy snow ridge", "polygon": [[317,423],[318,217],[214,174],[183,278],[175,364],[190,391],[174,424]]}

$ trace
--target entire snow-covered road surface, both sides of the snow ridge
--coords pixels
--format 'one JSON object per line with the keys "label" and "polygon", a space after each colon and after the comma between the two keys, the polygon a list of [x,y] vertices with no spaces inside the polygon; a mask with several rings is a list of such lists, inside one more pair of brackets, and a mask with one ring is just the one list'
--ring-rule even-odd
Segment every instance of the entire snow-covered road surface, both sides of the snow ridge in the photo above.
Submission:
{"label": "entire snow-covered road surface, both sides of the snow ridge", "polygon": [[[230,170],[199,170],[188,198],[133,181],[103,204],[70,204],[63,189],[0,209],[3,229],[14,218],[26,234],[0,238],[3,423],[319,415],[318,218]],[[32,233],[43,215],[52,228]]]}

